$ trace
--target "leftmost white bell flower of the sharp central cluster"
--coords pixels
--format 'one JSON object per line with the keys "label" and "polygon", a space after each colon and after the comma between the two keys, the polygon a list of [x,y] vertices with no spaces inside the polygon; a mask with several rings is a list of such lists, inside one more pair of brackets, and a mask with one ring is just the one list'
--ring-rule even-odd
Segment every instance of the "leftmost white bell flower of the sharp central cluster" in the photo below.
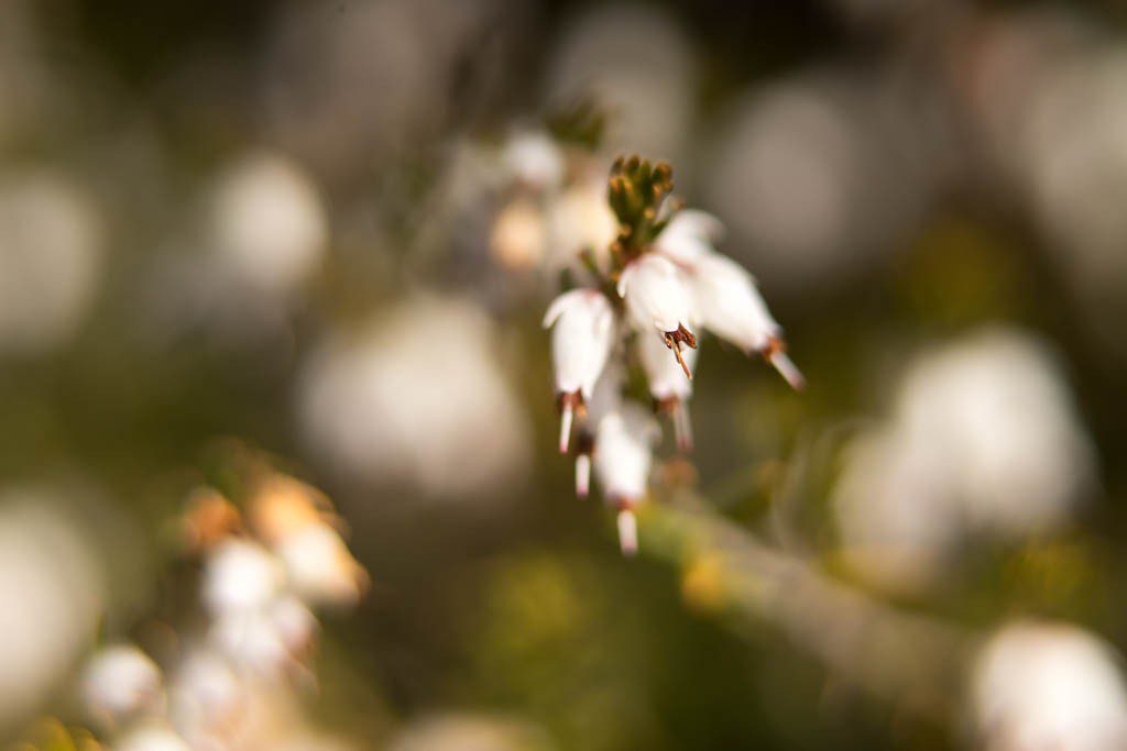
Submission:
{"label": "leftmost white bell flower of the sharp central cluster", "polygon": [[566,292],[548,307],[544,328],[552,328],[556,391],[564,410],[560,452],[567,453],[576,408],[591,399],[614,345],[614,311],[594,289]]}

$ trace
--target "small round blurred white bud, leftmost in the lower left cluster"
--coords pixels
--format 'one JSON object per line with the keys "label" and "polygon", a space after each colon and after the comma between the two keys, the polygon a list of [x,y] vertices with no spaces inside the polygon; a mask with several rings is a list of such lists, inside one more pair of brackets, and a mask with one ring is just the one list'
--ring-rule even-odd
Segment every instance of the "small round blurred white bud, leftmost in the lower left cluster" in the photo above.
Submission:
{"label": "small round blurred white bud, leftmost in the lower left cluster", "polygon": [[132,644],[98,650],[82,671],[81,685],[90,714],[110,726],[161,703],[160,669]]}

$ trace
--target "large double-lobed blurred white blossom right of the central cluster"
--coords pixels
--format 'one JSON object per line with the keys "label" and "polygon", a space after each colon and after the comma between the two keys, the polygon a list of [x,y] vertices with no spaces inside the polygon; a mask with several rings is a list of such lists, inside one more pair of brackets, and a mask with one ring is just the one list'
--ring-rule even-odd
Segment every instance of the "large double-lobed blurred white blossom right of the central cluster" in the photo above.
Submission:
{"label": "large double-lobed blurred white blossom right of the central cluster", "polygon": [[866,569],[907,583],[933,573],[969,531],[1013,538],[1057,528],[1092,488],[1093,468],[1045,346],[987,330],[912,365],[891,422],[850,452],[835,506],[859,562],[890,554]]}

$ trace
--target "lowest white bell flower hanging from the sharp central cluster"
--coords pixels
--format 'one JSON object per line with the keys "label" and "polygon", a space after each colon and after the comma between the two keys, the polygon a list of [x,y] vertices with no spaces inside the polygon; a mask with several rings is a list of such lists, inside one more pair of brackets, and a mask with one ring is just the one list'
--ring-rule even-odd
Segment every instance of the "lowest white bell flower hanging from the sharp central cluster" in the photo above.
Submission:
{"label": "lowest white bell flower hanging from the sharp central cluster", "polygon": [[619,543],[627,555],[638,549],[633,507],[646,497],[657,422],[637,404],[624,403],[605,415],[595,437],[595,473],[606,499],[619,508]]}

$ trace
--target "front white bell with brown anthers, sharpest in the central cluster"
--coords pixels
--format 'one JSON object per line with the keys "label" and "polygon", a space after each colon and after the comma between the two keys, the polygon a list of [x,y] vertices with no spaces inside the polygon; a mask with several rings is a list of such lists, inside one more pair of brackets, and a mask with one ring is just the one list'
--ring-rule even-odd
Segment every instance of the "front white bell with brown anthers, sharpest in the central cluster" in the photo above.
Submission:
{"label": "front white bell with brown anthers, sharpest in the central cluster", "polygon": [[673,350],[685,376],[692,378],[681,354],[682,343],[696,347],[696,337],[690,325],[692,292],[684,274],[669,259],[647,253],[622,271],[619,296],[627,302],[627,311],[641,336],[656,329],[666,347]]}

